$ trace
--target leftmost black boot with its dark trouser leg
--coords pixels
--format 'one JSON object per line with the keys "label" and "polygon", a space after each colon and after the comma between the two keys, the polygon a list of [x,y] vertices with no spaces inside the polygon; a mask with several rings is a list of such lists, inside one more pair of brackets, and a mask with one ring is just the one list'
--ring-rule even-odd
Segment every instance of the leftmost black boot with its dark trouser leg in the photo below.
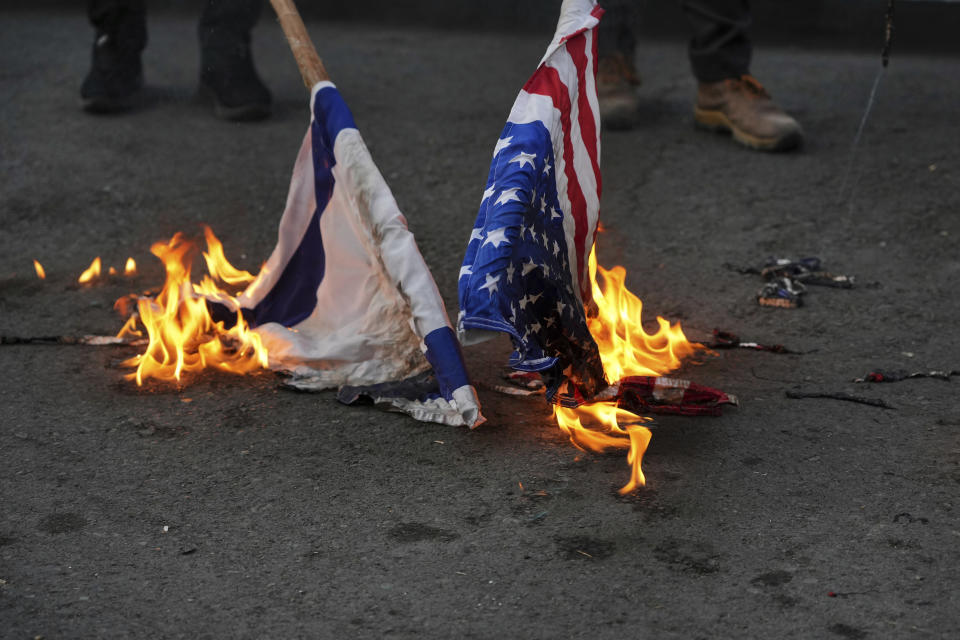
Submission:
{"label": "leftmost black boot with its dark trouser leg", "polygon": [[130,109],[143,87],[140,53],[147,45],[143,0],[91,0],[88,13],[96,38],[93,63],[80,87],[81,104],[92,113]]}

